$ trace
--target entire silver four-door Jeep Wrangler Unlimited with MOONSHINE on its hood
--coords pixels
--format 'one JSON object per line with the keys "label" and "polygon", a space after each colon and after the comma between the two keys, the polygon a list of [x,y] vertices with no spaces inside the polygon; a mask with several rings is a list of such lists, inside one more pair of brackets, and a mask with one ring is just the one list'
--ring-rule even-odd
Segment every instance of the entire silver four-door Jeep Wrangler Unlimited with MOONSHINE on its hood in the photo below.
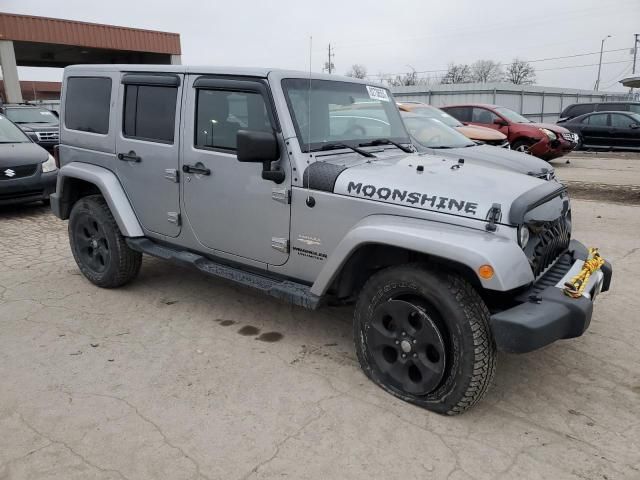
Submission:
{"label": "entire silver four-door Jeep Wrangler Unlimited with MOONSHINE on its hood", "polygon": [[391,94],[268,69],[65,69],[54,213],[94,284],[143,253],[315,309],[354,302],[365,374],[456,414],[496,350],[581,335],[611,266],[570,298],[587,249],[565,188],[416,153]]}

